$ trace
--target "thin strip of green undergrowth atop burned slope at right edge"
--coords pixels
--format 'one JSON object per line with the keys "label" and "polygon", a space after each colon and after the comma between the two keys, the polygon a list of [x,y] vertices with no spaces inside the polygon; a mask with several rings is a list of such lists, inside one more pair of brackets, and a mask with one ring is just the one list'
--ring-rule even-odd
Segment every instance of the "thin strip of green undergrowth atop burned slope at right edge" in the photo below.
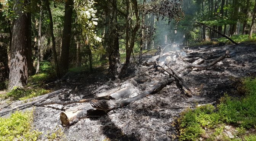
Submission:
{"label": "thin strip of green undergrowth atop burned slope at right edge", "polygon": [[[248,38],[249,35],[233,35],[230,37],[230,39],[232,39],[233,41],[237,42],[237,43],[241,43],[241,42],[256,42],[256,33],[253,33],[252,38],[249,39]],[[219,38],[218,39],[219,42],[224,42],[227,44],[232,44],[232,42],[230,42],[227,38]]]}

